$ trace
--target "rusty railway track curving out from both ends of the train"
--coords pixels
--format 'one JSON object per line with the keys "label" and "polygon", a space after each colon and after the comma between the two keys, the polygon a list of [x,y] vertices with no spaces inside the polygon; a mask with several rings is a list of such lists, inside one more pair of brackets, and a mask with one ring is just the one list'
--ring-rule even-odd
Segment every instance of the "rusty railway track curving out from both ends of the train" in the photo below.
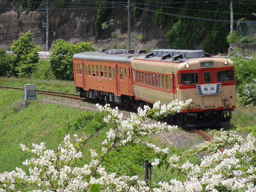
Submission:
{"label": "rusty railway track curving out from both ends of the train", "polygon": [[[0,86],[1,89],[14,89],[14,90],[24,90],[24,88],[18,88],[18,87],[9,87],[9,86]],[[38,94],[47,94],[50,96],[57,96],[57,97],[63,97],[63,98],[72,98],[75,100],[83,100],[86,102],[92,102],[92,100],[87,100],[85,98],[80,98],[80,96],[78,94],[70,94],[70,93],[64,93],[64,92],[54,92],[54,91],[47,91],[47,90],[36,90],[36,93]],[[97,103],[99,101],[96,101]],[[204,140],[206,141],[211,141],[213,140],[213,138],[211,136],[209,136],[206,132],[204,132],[203,130],[197,129],[197,128],[191,128],[190,130],[196,132],[197,134],[199,134],[200,136],[202,136],[204,138]],[[220,151],[223,152],[224,150],[222,148],[220,148]]]}

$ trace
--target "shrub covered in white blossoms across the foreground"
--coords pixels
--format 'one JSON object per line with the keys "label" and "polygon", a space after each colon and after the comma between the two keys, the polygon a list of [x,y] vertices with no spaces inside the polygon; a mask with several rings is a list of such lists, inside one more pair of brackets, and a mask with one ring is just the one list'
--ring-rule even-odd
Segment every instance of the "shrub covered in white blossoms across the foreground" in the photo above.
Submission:
{"label": "shrub covered in white blossoms across the foreground", "polygon": [[[160,148],[148,142],[148,136],[160,133],[163,130],[171,131],[175,126],[166,123],[148,124],[147,116],[165,116],[167,113],[179,112],[182,107],[189,104],[174,101],[160,106],[157,102],[150,109],[144,106],[139,108],[138,114],[131,114],[127,120],[122,120],[122,114],[118,108],[111,109],[108,105],[98,108],[105,114],[104,121],[112,124],[107,132],[106,140],[102,142],[102,151],[97,154],[90,149],[90,162],[85,164],[82,156],[84,144],[91,135],[76,138],[76,143],[70,142],[70,136],[64,138],[57,151],[47,150],[44,143],[33,144],[30,150],[21,144],[25,152],[34,154],[34,158],[26,160],[23,164],[29,167],[26,173],[20,168],[12,172],[0,174],[0,192],[17,191],[19,185],[30,185],[36,189],[33,192],[80,192],[80,191],[131,191],[131,192],[201,192],[201,191],[256,191],[256,167],[255,144],[256,138],[251,134],[247,140],[243,140],[235,133],[213,132],[214,142],[205,142],[200,149],[208,148],[209,152],[226,143],[232,145],[231,149],[223,154],[218,151],[204,157],[200,165],[185,162],[179,165],[180,157],[177,155],[168,157],[168,148]],[[140,176],[119,176],[115,173],[107,173],[101,162],[108,152],[125,145],[143,144],[153,148],[158,153],[158,158],[152,163],[153,166],[171,169],[177,174],[184,174],[186,181],[176,179],[167,182],[150,183],[139,180]],[[211,148],[211,146],[213,146]],[[194,153],[193,150],[188,152]]]}

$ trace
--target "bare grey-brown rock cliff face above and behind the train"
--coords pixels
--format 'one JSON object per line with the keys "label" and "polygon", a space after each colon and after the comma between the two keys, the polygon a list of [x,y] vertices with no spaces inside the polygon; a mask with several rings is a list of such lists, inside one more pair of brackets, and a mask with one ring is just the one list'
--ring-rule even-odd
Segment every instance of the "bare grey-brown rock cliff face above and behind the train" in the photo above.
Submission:
{"label": "bare grey-brown rock cliff face above and behind the train", "polygon": [[[97,41],[95,41],[96,30],[94,24],[93,10],[50,10],[50,50],[56,39],[63,39],[69,42],[78,43],[80,41],[93,42],[96,48],[128,48],[127,30],[122,30],[120,25],[116,24],[108,29],[102,29]],[[131,48],[151,49],[151,48],[168,48],[165,41],[164,31],[156,26],[153,22],[154,16],[149,15],[146,22],[141,20],[142,14],[136,19],[131,20]],[[115,10],[107,18],[121,20],[127,24],[127,11]],[[17,40],[22,33],[30,30],[34,36],[34,42],[46,51],[46,28],[42,27],[42,21],[46,23],[46,10],[32,11],[28,14],[22,12],[18,18],[14,10],[0,12],[0,47],[10,48],[13,40]],[[116,32],[115,37],[111,33]],[[143,38],[140,38],[143,34]]]}

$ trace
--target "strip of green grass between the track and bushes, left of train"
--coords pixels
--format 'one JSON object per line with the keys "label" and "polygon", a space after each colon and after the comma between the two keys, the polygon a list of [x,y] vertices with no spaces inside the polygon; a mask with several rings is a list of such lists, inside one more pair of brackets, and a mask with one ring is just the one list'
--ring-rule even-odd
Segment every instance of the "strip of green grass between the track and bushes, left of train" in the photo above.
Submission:
{"label": "strip of green grass between the track and bushes, left of train", "polygon": [[36,84],[36,89],[76,94],[74,81],[35,78],[0,77],[0,85],[24,88],[24,84]]}

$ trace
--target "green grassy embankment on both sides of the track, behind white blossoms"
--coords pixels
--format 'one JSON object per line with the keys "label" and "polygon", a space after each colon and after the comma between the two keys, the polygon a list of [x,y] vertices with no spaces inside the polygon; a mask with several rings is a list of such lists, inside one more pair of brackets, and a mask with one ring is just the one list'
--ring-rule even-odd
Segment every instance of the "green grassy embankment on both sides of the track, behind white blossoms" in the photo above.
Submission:
{"label": "green grassy embankment on both sides of the track, behind white blossoms", "polygon": [[[73,82],[58,82],[46,80],[32,80],[25,78],[0,78],[0,85],[24,87],[24,84],[36,84],[36,88],[56,90],[72,93]],[[68,88],[66,88],[67,86]],[[56,89],[55,89],[56,87]],[[60,106],[58,104],[46,104],[38,101],[33,101],[26,110],[18,111],[18,100],[24,100],[24,92],[17,90],[0,90],[0,172],[11,171],[16,167],[25,168],[22,162],[31,155],[22,152],[20,143],[25,144],[31,148],[32,143],[40,144],[45,142],[49,149],[55,150],[58,144],[63,140],[66,134],[81,135],[86,132],[89,134],[94,132],[94,136],[88,142],[86,149],[94,148],[101,149],[101,142],[106,139],[106,131],[108,128],[99,124],[102,119],[100,116],[94,116],[92,112],[81,112],[79,109],[70,108],[68,106]],[[160,139],[153,137],[155,143],[160,143]],[[162,144],[163,145],[163,144]],[[184,149],[170,147],[171,154],[179,154]],[[85,154],[90,154],[90,151]],[[132,155],[131,155],[132,154]],[[153,161],[154,152],[142,146],[135,146],[130,148],[120,148],[113,151],[106,158],[103,166],[108,172],[116,172],[120,174],[137,174],[143,172],[144,159]],[[188,159],[183,159],[184,162]],[[198,163],[199,158],[191,158],[191,162]],[[164,176],[164,171],[153,169],[152,180],[159,181]],[[165,179],[175,178],[176,175],[166,174]]]}

